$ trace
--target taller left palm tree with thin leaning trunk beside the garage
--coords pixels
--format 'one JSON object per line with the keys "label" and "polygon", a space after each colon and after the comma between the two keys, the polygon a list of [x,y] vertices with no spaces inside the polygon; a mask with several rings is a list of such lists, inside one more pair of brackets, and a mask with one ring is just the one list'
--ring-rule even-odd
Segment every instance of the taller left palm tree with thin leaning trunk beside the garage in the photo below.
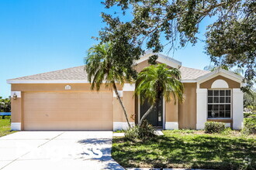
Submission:
{"label": "taller left palm tree with thin leaning trunk beside the garage", "polygon": [[126,69],[118,66],[112,59],[112,43],[102,43],[92,46],[88,49],[88,56],[85,58],[85,70],[88,73],[88,81],[92,83],[91,89],[100,90],[102,83],[105,81],[106,87],[113,89],[119,100],[125,114],[128,127],[130,122],[127,117],[126,108],[123,105],[116,83],[123,85],[124,82],[131,82],[126,76]]}

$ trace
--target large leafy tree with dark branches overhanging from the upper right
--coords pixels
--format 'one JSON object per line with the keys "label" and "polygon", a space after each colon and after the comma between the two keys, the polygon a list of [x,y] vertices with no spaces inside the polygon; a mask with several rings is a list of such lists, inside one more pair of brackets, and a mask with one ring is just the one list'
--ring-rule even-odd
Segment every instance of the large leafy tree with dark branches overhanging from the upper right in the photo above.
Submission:
{"label": "large leafy tree with dark branches overhanging from the upper right", "polygon": [[[206,53],[216,66],[244,68],[247,82],[244,90],[253,85],[256,76],[254,0],[106,0],[102,3],[106,8],[115,7],[116,12],[102,13],[107,26],[99,32],[99,39],[115,42],[114,56],[130,73],[133,73],[133,60],[144,52],[142,47],[157,53],[164,47],[172,50],[185,47],[188,42],[195,45],[200,24],[212,18],[207,26]],[[132,18],[124,21],[127,13]],[[151,56],[151,60],[155,59],[157,56]]]}

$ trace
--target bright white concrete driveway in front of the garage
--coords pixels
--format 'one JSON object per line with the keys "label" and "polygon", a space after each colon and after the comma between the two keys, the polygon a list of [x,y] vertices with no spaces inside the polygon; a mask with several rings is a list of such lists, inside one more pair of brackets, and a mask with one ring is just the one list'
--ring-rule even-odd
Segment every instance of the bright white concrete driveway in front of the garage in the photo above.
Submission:
{"label": "bright white concrete driveway in front of the garage", "polygon": [[0,169],[123,169],[112,131],[20,131],[0,138]]}

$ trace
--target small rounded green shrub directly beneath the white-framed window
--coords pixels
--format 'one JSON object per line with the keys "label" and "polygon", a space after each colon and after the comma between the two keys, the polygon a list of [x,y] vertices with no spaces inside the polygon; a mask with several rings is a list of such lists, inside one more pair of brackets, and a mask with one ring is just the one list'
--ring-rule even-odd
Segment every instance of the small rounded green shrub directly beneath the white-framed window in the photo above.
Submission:
{"label": "small rounded green shrub directly beneath the white-framed window", "polygon": [[207,121],[205,123],[205,131],[207,134],[220,134],[225,130],[225,124],[216,121]]}

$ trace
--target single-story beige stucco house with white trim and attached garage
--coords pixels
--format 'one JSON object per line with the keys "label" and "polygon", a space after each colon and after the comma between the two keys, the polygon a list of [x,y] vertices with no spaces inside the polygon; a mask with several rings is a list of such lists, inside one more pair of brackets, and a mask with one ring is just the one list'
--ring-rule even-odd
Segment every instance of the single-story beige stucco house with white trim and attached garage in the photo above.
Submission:
{"label": "single-story beige stucco house with white trim and attached garage", "polygon": [[[152,53],[137,61],[140,72]],[[164,129],[202,129],[206,121],[220,121],[240,129],[243,122],[242,76],[227,70],[209,72],[182,66],[158,53],[157,63],[181,70],[184,102],[164,100],[147,120]],[[7,80],[12,85],[12,130],[117,130],[126,129],[123,110],[115,93],[102,85],[90,90],[84,66]],[[132,124],[149,104],[134,96],[135,85],[119,85],[119,94]]]}

